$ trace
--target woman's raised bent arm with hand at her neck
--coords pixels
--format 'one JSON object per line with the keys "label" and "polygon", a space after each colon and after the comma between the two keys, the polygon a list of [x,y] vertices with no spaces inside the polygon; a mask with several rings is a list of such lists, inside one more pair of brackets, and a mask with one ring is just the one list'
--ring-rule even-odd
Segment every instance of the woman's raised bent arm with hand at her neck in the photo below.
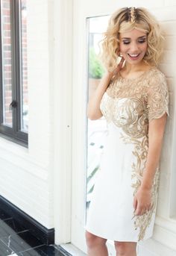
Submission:
{"label": "woman's raised bent arm with hand at her neck", "polygon": [[123,62],[124,62],[124,58],[122,57],[122,60],[120,61],[116,69],[113,70],[113,72],[106,72],[106,74],[98,84],[98,87],[95,90],[95,93],[93,93],[92,97],[89,99],[88,106],[87,106],[87,117],[89,119],[96,120],[102,116],[102,113],[100,110],[101,98],[105,90],[109,86],[110,80],[113,78],[113,75],[116,75],[116,73],[119,72],[120,69],[122,69]]}

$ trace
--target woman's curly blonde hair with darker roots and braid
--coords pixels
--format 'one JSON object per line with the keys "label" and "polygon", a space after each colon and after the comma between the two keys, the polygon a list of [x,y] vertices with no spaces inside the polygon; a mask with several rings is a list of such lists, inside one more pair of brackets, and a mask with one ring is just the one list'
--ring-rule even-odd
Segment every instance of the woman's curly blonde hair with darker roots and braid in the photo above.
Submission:
{"label": "woman's curly blonde hair with darker roots and braid", "polygon": [[148,48],[143,60],[151,66],[160,63],[163,54],[163,30],[151,13],[143,7],[124,7],[110,17],[107,31],[100,41],[101,60],[107,70],[116,68],[119,59],[119,34],[136,28],[147,33]]}

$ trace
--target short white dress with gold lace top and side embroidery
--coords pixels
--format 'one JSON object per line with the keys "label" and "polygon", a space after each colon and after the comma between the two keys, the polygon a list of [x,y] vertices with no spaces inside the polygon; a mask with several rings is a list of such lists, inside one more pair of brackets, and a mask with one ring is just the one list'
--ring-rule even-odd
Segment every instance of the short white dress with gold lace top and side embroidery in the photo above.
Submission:
{"label": "short white dress with gold lace top and side embroidery", "polygon": [[100,104],[108,134],[95,180],[85,229],[108,240],[138,242],[153,234],[160,169],[152,186],[152,208],[134,215],[133,197],[142,181],[148,155],[148,123],[167,113],[166,77],[152,67],[139,78],[110,82]]}

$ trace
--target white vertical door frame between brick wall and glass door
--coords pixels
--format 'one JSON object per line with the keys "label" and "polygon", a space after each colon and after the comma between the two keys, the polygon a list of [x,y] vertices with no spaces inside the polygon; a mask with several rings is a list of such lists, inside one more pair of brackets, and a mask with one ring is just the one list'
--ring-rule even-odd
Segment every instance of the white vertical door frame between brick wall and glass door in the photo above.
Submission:
{"label": "white vertical door frame between brick wall and glass door", "polygon": [[[72,0],[53,0],[53,193],[55,243],[71,241]],[[52,44],[51,44],[52,46]]]}

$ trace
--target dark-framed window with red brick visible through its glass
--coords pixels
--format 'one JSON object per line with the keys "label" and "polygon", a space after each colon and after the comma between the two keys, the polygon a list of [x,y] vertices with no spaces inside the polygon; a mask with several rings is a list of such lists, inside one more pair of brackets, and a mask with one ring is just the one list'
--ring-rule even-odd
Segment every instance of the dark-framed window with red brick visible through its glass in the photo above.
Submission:
{"label": "dark-framed window with red brick visible through its glass", "polygon": [[28,144],[26,0],[0,0],[0,135]]}

